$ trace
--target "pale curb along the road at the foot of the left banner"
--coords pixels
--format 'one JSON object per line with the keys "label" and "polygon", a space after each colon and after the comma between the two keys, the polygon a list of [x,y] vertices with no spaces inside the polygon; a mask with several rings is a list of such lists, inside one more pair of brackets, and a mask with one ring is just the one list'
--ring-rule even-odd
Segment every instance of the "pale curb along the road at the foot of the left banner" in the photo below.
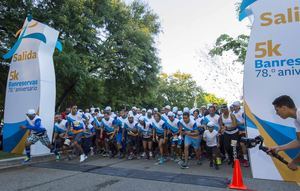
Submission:
{"label": "pale curb along the road at the foot of the left banner", "polygon": [[[0,170],[20,167],[20,166],[26,166],[27,164],[22,163],[23,159],[24,159],[24,156],[0,160]],[[47,161],[51,161],[51,160],[55,160],[54,154],[32,156],[31,162],[28,164],[47,162]]]}

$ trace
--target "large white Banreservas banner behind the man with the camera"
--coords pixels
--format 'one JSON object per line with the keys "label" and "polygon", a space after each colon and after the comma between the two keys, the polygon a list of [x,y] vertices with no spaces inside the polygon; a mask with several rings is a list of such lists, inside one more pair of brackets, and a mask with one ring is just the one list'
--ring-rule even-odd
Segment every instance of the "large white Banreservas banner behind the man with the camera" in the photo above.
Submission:
{"label": "large white Banreservas banner behind the man with the camera", "polygon": [[[293,119],[276,115],[272,102],[290,96],[300,109],[300,5],[299,0],[245,0],[240,19],[253,16],[254,22],[245,62],[244,101],[249,137],[261,135],[272,147],[296,139]],[[299,149],[280,152],[291,161]],[[300,172],[258,147],[250,149],[254,178],[300,182]]]}

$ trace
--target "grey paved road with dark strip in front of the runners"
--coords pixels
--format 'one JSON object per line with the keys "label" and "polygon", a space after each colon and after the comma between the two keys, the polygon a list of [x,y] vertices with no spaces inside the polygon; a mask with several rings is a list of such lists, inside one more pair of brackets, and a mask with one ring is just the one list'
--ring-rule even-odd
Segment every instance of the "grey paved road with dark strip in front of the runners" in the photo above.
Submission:
{"label": "grey paved road with dark strip in front of the runners", "polygon": [[[244,181],[251,190],[300,190],[293,183],[257,180],[250,169],[243,168]],[[176,191],[227,190],[227,178],[232,169],[226,165],[216,171],[191,162],[189,169],[180,169],[172,161],[155,165],[153,160],[118,160],[94,157],[83,164],[50,161],[9,168],[0,171],[1,191],[23,190],[88,190],[88,191]]]}

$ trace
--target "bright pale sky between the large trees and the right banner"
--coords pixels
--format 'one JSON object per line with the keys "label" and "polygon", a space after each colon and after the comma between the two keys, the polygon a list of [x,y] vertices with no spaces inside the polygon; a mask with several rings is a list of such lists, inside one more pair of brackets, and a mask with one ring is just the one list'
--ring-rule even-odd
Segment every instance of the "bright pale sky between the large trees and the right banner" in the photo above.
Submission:
{"label": "bright pale sky between the large trees and the right banner", "polygon": [[[132,0],[125,0],[126,3]],[[192,74],[205,91],[228,102],[241,99],[243,67],[234,56],[207,56],[221,34],[249,34],[247,21],[239,22],[237,0],[143,0],[158,14],[162,33],[157,39],[162,72]],[[232,92],[234,90],[235,92]]]}

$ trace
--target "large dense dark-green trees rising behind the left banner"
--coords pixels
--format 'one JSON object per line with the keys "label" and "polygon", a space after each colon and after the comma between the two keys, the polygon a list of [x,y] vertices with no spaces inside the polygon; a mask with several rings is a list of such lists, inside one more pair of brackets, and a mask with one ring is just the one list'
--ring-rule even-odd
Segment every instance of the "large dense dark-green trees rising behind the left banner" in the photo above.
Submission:
{"label": "large dense dark-green trees rising behind the left banner", "polygon": [[[155,36],[158,17],[147,5],[120,0],[3,0],[0,2],[0,54],[15,42],[27,13],[59,30],[64,50],[55,52],[56,109],[141,104],[158,84]],[[8,73],[0,58],[0,105]],[[150,99],[150,98],[149,98]]]}

